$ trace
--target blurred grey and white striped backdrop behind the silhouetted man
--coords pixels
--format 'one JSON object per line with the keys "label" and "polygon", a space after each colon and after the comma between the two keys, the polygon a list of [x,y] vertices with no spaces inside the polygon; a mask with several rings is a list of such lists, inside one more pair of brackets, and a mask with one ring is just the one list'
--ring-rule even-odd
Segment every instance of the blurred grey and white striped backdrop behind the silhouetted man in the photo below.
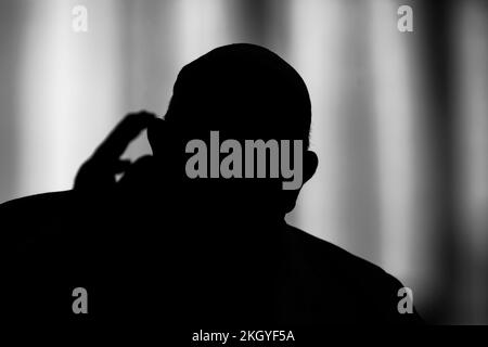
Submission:
{"label": "blurred grey and white striped backdrop behind the silhouetted man", "polygon": [[399,278],[428,322],[487,324],[486,1],[3,0],[0,203],[72,188],[125,114],[164,115],[179,69],[232,42],[311,94],[319,170],[288,221]]}

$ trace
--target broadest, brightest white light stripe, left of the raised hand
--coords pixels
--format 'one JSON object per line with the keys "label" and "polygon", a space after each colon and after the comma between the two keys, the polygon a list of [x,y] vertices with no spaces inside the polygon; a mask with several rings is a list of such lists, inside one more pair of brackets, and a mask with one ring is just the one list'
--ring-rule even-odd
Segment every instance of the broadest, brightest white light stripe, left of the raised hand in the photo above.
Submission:
{"label": "broadest, brightest white light stripe, left of the raised hand", "polygon": [[82,34],[72,28],[75,4],[29,3],[20,61],[17,195],[69,189],[120,113],[115,1],[86,1],[89,31]]}

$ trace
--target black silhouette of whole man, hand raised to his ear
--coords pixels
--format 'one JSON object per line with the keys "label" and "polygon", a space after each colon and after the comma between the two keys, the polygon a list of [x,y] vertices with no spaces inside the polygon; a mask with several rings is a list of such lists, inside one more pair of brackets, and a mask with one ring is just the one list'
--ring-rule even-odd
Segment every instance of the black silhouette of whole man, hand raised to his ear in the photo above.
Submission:
{"label": "black silhouette of whole man, hand raised to his ear", "polygon": [[[211,174],[230,149],[193,163],[202,175],[189,177],[189,142],[208,143],[218,131],[219,143],[301,141],[288,164],[301,157],[306,182],[318,165],[308,151],[310,108],[300,76],[264,48],[226,46],[184,66],[165,118],[125,118],[74,190],[1,206],[11,309],[20,318],[193,326],[418,322],[415,312],[399,312],[396,279],[284,222],[299,189],[269,175],[270,149],[266,178]],[[121,160],[144,129],[153,155]],[[235,165],[227,169],[239,172]],[[259,158],[253,165],[259,169]],[[76,287],[88,293],[85,316],[73,312]]]}

